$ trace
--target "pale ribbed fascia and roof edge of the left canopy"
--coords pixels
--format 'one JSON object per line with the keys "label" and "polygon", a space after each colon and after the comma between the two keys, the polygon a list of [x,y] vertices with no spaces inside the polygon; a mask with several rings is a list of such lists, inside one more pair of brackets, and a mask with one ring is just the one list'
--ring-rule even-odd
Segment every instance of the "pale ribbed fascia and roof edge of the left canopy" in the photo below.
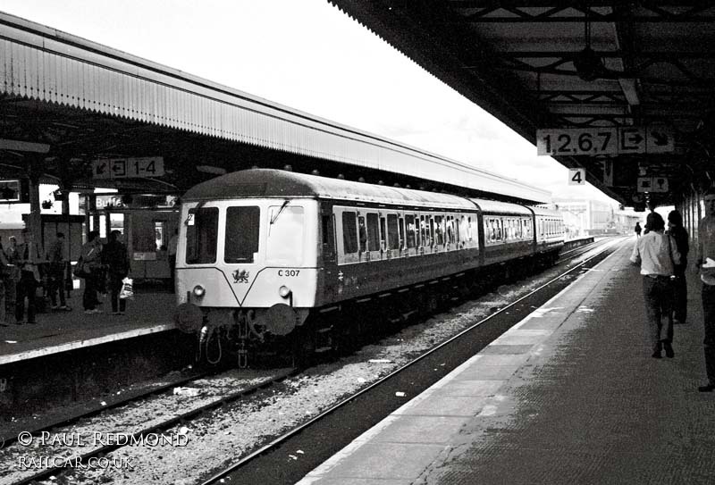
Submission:
{"label": "pale ribbed fascia and roof edge of the left canopy", "polygon": [[[201,138],[191,143],[198,146],[189,147],[198,155],[219,143],[217,140],[230,140],[368,170],[437,180],[458,188],[531,201],[550,198],[541,188],[301,113],[5,13],[0,13],[0,53],[0,102],[12,104],[13,113],[17,113],[17,118],[5,117],[5,133],[14,131],[15,138],[29,141],[38,141],[32,139],[34,133],[52,133],[46,135],[54,138],[49,140],[49,155],[62,151],[61,155],[68,158],[78,156],[71,150],[96,154],[103,147],[102,134],[97,132],[102,129],[110,133],[121,129],[128,134],[113,138],[112,145],[106,144],[120,154],[122,150],[139,151],[141,148],[132,144],[137,145],[137,140],[143,138],[147,138],[144,150],[156,146],[152,137],[160,135],[164,139],[174,136],[165,144],[176,148],[181,146],[181,133],[198,134]],[[84,131],[71,141],[63,139],[66,131],[58,130],[63,126],[63,116],[56,113],[58,106],[71,109],[72,120],[65,121],[66,125],[86,123]],[[30,132],[28,123],[33,127]],[[169,130],[169,134],[156,127]],[[181,152],[181,148],[176,151]],[[224,148],[223,153],[226,151]],[[229,171],[237,168],[248,167],[234,166]]]}

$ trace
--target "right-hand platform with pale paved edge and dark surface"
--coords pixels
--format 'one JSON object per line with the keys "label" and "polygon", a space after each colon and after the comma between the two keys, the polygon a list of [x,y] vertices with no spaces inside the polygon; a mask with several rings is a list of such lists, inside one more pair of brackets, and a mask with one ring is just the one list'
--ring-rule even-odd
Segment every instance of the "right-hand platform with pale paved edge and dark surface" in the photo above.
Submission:
{"label": "right-hand platform with pale paved edge and dark surface", "polygon": [[634,243],[299,484],[711,483],[700,280],[675,357],[652,358]]}

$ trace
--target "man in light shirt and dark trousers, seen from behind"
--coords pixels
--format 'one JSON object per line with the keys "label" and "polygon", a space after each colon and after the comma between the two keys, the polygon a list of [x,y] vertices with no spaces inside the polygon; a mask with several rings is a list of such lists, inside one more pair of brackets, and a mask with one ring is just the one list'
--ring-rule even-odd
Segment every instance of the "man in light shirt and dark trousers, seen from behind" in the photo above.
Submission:
{"label": "man in light shirt and dark trousers, seen from behind", "polygon": [[659,213],[648,214],[645,229],[647,234],[636,241],[630,260],[641,264],[651,356],[660,359],[660,351],[664,349],[666,356],[674,357],[673,284],[670,277],[673,276],[673,266],[680,263],[680,254],[676,241],[664,233],[665,222]]}

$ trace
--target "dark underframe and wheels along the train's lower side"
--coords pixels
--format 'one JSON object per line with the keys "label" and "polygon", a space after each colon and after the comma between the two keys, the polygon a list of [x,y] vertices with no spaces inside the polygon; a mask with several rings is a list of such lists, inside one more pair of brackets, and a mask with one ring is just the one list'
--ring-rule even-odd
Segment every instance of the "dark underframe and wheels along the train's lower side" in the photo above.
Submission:
{"label": "dark underframe and wheels along the train's lower side", "polygon": [[199,332],[197,360],[219,364],[231,359],[246,368],[349,354],[418,318],[541,271],[558,257],[557,249],[317,308],[275,305],[267,310],[225,309],[221,316],[209,312],[213,317],[205,316]]}

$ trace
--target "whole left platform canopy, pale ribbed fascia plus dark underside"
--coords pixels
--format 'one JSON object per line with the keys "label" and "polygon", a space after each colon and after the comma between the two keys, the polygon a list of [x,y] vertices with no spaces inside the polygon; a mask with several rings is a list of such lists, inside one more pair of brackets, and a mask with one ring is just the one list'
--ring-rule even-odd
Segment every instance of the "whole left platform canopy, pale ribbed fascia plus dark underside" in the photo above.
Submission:
{"label": "whole left platform canopy, pale ribbed fascia plus dark underside", "polygon": [[0,179],[181,193],[252,168],[472,197],[542,188],[0,13]]}

